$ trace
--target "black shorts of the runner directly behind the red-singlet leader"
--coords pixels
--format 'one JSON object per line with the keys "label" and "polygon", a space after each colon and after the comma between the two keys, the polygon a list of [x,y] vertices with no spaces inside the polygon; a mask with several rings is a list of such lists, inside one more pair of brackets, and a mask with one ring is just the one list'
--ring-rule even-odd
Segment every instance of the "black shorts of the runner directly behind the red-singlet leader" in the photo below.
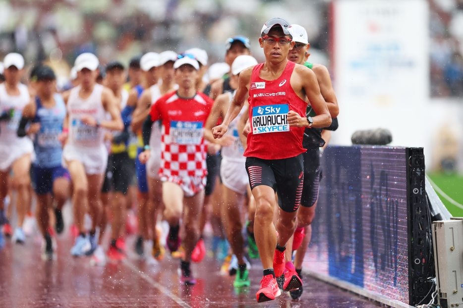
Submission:
{"label": "black shorts of the runner directly behind the red-singlet leader", "polygon": [[302,153],[304,160],[304,186],[300,205],[311,207],[317,202],[318,190],[322,172],[320,169],[320,148],[308,147],[307,152]]}

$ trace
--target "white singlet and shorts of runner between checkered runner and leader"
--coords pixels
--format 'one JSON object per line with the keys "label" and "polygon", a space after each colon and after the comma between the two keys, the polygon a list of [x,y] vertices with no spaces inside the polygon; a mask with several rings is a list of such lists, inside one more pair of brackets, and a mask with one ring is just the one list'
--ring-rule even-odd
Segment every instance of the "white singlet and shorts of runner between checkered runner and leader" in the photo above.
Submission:
{"label": "white singlet and shorts of runner between checkered runner and leader", "polygon": [[[236,92],[236,91],[235,91]],[[230,101],[234,93],[229,93]],[[231,121],[226,135],[231,135],[235,138],[234,143],[228,147],[222,147],[222,162],[220,164],[220,177],[222,183],[229,189],[239,194],[244,195],[249,186],[249,180],[246,172],[246,157],[243,156],[244,148],[239,139],[238,121],[243,115],[245,108],[241,111],[236,118]]]}

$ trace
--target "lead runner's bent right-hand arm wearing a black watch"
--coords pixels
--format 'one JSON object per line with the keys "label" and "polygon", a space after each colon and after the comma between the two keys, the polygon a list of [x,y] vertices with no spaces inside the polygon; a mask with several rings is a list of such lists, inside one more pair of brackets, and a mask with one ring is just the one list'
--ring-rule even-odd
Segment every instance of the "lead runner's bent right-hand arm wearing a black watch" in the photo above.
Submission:
{"label": "lead runner's bent right-hand arm wearing a black watch", "polygon": [[[299,97],[307,96],[313,110],[317,114],[313,117],[312,127],[330,126],[330,111],[320,93],[315,73],[303,65],[296,65],[294,72],[296,74],[293,73],[293,76],[291,76],[291,86]],[[293,110],[289,110],[287,119],[290,127],[306,127],[309,125],[305,114],[301,116]]]}

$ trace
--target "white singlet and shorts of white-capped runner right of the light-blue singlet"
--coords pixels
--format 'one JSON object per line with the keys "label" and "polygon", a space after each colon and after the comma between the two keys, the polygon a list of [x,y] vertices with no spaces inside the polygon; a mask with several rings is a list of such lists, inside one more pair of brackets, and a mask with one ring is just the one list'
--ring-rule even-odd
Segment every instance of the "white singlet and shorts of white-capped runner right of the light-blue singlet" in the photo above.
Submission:
{"label": "white singlet and shorts of white-capped runner right of the light-blue singlet", "polygon": [[79,96],[80,86],[73,88],[67,100],[69,114],[69,137],[63,149],[62,165],[66,161],[82,162],[87,174],[104,174],[108,163],[108,150],[105,147],[105,130],[102,127],[85,125],[80,121],[82,115],[90,115],[97,121],[106,119],[106,110],[101,102],[103,86],[95,84],[92,94],[83,100]]}

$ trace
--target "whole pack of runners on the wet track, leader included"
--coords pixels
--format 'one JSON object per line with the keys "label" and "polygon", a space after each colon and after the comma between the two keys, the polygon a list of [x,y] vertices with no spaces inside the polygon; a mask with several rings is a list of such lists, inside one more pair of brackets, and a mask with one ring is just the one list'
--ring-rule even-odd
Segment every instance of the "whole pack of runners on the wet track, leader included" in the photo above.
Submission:
{"label": "whole pack of runners on the wet track, leader included", "polygon": [[[225,63],[211,66],[197,48],[148,52],[128,68],[82,53],[61,93],[53,69],[41,63],[21,83],[24,59],[7,54],[0,249],[4,237],[26,243],[35,205],[44,259],[56,257],[55,238],[68,227],[70,255],[90,256],[95,266],[117,262],[127,256],[127,231],[135,230],[136,255],[161,261],[167,248],[179,259],[179,282],[194,284],[190,263],[206,256],[209,222],[212,251],[235,275],[234,287],[250,286],[248,259],[260,258],[257,302],[281,289],[300,297],[320,154],[339,108],[326,67],[307,62],[303,27],[272,18],[259,43],[260,64],[242,36],[227,41]],[[69,199],[73,224],[65,226]]]}

